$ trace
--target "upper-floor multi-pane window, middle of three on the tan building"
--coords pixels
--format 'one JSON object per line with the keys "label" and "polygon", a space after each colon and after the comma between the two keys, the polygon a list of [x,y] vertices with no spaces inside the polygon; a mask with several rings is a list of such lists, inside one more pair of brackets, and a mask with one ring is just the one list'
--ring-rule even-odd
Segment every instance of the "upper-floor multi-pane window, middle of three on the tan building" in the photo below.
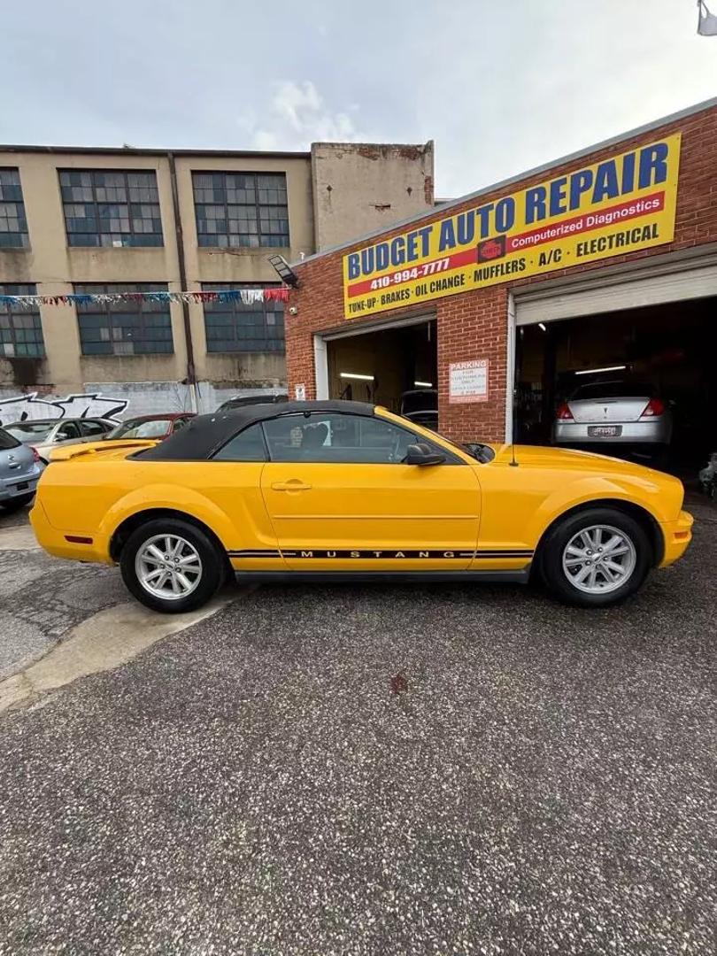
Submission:
{"label": "upper-floor multi-pane window, middle of three on the tan building", "polygon": [[59,177],[68,245],[163,245],[153,169],[60,169]]}

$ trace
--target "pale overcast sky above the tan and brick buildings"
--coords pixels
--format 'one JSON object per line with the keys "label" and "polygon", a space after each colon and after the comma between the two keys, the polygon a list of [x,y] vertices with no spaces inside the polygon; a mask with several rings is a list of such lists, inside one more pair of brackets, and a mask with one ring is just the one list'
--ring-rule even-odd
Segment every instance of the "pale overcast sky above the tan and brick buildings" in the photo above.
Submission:
{"label": "pale overcast sky above the tan and brick buildings", "polygon": [[717,95],[694,0],[22,0],[1,22],[2,142],[433,139],[442,197]]}

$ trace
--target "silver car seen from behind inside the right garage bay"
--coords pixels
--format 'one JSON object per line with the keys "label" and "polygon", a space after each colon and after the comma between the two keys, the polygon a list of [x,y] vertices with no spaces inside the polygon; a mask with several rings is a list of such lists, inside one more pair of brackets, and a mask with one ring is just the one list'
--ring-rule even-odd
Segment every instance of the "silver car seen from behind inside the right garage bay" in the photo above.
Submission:
{"label": "silver car seen from behind inside the right garage bay", "polygon": [[644,382],[592,381],[557,409],[555,445],[638,445],[637,451],[663,458],[672,439],[672,412],[656,389]]}

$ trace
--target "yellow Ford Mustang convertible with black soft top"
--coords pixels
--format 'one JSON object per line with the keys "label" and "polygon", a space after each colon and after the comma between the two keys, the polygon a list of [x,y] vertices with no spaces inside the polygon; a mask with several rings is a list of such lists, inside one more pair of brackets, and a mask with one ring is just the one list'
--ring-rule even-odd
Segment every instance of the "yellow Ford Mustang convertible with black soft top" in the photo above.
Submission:
{"label": "yellow Ford Mustang convertible with black soft top", "polygon": [[32,511],[50,554],[119,564],[157,611],[246,579],[528,581],[602,607],[684,554],[669,475],[584,452],[455,445],[359,402],[253,405],[162,444],[58,448]]}

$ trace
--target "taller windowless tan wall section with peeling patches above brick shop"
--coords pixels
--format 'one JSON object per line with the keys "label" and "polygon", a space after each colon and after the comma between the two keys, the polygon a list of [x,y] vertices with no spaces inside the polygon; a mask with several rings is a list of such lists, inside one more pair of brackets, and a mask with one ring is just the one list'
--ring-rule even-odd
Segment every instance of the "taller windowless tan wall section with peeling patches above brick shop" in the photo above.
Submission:
{"label": "taller windowless tan wall section with peeling patches above brick shop", "polygon": [[430,209],[433,177],[432,140],[313,143],[316,250]]}

